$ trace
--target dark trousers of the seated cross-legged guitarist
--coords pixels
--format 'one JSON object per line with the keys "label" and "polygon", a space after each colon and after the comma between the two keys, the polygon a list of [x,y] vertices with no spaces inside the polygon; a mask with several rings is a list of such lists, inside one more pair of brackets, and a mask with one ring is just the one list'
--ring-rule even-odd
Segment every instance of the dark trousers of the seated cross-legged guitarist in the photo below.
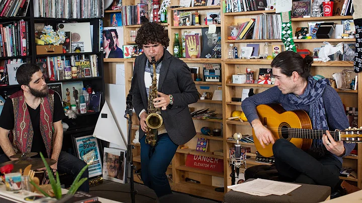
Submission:
{"label": "dark trousers of the seated cross-legged guitarist", "polygon": [[275,142],[273,152],[280,175],[298,183],[337,186],[342,163],[331,154],[316,159],[285,139]]}

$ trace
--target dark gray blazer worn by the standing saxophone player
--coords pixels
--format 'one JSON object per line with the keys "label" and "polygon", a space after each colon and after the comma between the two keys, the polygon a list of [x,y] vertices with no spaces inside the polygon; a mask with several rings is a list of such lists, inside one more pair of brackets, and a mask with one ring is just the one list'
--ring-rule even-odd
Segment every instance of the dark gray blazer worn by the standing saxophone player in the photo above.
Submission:
{"label": "dark gray blazer worn by the standing saxophone player", "polygon": [[[138,56],[133,69],[132,105],[137,116],[143,109],[147,111],[148,98],[144,83],[146,60],[146,55]],[[170,139],[177,145],[187,143],[196,135],[188,105],[198,101],[199,92],[191,77],[190,68],[166,49],[163,53],[158,91],[173,96],[173,104],[168,105],[167,110],[161,110],[163,123]],[[141,139],[145,132],[141,127],[139,132],[139,139]]]}

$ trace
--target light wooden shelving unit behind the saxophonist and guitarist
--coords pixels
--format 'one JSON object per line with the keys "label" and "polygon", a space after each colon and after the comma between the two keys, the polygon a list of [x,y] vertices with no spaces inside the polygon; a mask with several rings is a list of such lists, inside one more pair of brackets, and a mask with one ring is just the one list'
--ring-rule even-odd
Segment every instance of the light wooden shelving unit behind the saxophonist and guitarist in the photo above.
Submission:
{"label": "light wooden shelving unit behind the saxophonist and guitarist", "polygon": [[[177,0],[171,0],[170,6],[177,6]],[[123,1],[123,5],[135,5],[136,3],[133,0]],[[205,18],[205,14],[208,11],[221,11],[220,6],[212,6],[212,7],[191,7],[191,8],[175,8],[169,9],[168,13],[168,23],[163,24],[167,26],[168,36],[170,38],[169,43],[169,52],[172,54],[172,47],[174,41],[174,34],[178,33],[179,36],[187,30],[187,31],[195,31],[200,33],[202,28],[207,28],[207,25],[204,25],[204,21],[200,22],[202,25],[200,26],[173,26],[172,15],[174,11],[193,11],[198,10],[201,15],[201,19]],[[114,11],[112,11],[114,12]],[[222,69],[222,82],[205,82],[205,81],[195,81],[195,84],[200,93],[204,91],[213,92],[217,86],[222,86],[223,90],[223,100],[222,101],[214,101],[211,99],[199,100],[197,103],[189,105],[190,108],[194,108],[195,110],[201,110],[209,108],[210,110],[217,110],[217,118],[220,119],[196,119],[194,118],[195,129],[198,132],[197,135],[186,143],[183,146],[180,146],[177,149],[175,156],[172,159],[172,164],[169,165],[167,169],[167,174],[172,173],[173,181],[170,181],[170,185],[172,190],[179,192],[186,192],[193,195],[204,196],[207,198],[222,200],[224,193],[216,192],[214,186],[212,186],[212,176],[224,177],[224,189],[225,192],[228,191],[227,186],[231,184],[231,177],[229,176],[231,173],[231,168],[229,167],[229,148],[233,147],[235,141],[227,140],[228,137],[231,137],[235,132],[240,132],[243,135],[249,134],[251,135],[251,125],[248,122],[240,122],[236,120],[228,120],[227,118],[231,116],[232,112],[235,110],[241,111],[241,102],[231,101],[231,97],[241,97],[241,92],[243,88],[254,88],[254,92],[259,93],[264,91],[274,85],[264,85],[264,84],[232,84],[228,83],[228,80],[231,80],[231,75],[236,74],[238,72],[245,72],[246,67],[251,68],[254,71],[254,78],[258,75],[259,68],[269,68],[272,60],[267,59],[227,59],[228,52],[228,44],[233,43],[234,45],[242,45],[250,43],[258,43],[260,47],[263,46],[264,42],[269,42],[271,44],[283,44],[280,39],[272,39],[272,40],[226,40],[226,31],[227,26],[233,25],[236,22],[239,22],[240,19],[252,18],[256,15],[260,14],[273,14],[275,11],[254,11],[254,12],[238,12],[238,13],[222,13],[221,12],[221,25],[216,25],[217,27],[221,27],[221,36],[222,36],[222,58],[180,58],[189,66],[200,66],[203,63],[214,63],[221,64]],[[108,17],[109,18],[109,17]],[[298,18],[292,19],[292,27],[295,30],[296,27],[308,27],[304,25],[308,25],[308,22],[311,21],[327,21],[327,22],[335,22],[340,24],[340,20],[352,19],[351,16],[338,16],[338,17],[320,17],[320,18]],[[104,27],[107,27],[107,21],[109,19],[105,19]],[[129,40],[129,31],[135,30],[140,27],[139,25],[134,26],[124,26],[124,43],[125,44],[134,44],[134,42]],[[317,39],[317,40],[295,40],[296,43],[299,44],[300,49],[309,49],[313,50],[314,47],[320,46],[323,41],[328,41],[331,44],[335,45],[339,42],[353,42],[354,39]],[[259,51],[260,52],[260,51]],[[134,58],[130,59],[104,59],[105,62],[105,71],[106,71],[106,82],[115,83],[115,69],[116,64],[124,64],[125,65],[125,75],[126,75],[126,92],[130,88],[131,78],[132,78],[132,70],[133,70],[133,62]],[[352,69],[353,62],[352,61],[314,61],[312,64],[312,74],[321,74],[324,76],[330,77],[333,72],[339,72],[343,69]],[[107,77],[108,76],[108,77]],[[362,84],[362,77],[358,77],[358,83]],[[201,89],[201,86],[209,86],[208,90]],[[362,98],[362,85],[358,85],[358,90],[339,90],[336,89],[337,92],[341,95],[342,101],[346,106],[350,107],[358,107],[362,109],[362,102],[358,100],[358,98]],[[361,114],[360,114],[361,115]],[[133,126],[132,126],[132,134],[139,128],[137,116],[133,117]],[[362,126],[362,118],[358,116],[358,125]],[[204,126],[209,127],[210,129],[215,128],[223,128],[223,136],[222,137],[211,137],[208,135],[203,135],[200,133],[200,129]],[[209,140],[209,146],[207,152],[198,152],[195,150],[196,143],[198,138],[206,138]],[[253,143],[240,143],[242,146],[250,147],[251,153],[248,154],[251,157],[246,160],[247,167],[253,165],[260,165],[263,163],[255,162],[255,151],[256,148]],[[180,149],[181,147],[189,147],[187,149]],[[223,156],[214,155],[213,152],[216,150],[223,150]],[[362,188],[362,167],[360,158],[362,155],[362,145],[358,144],[357,147],[358,156],[347,156],[344,158],[344,165],[351,166],[357,169],[358,178],[345,178],[351,182],[357,184],[358,187]],[[200,155],[212,158],[222,159],[224,161],[224,172],[218,173],[213,171],[206,171],[203,169],[192,168],[185,165],[186,157],[188,154],[192,155]],[[135,145],[135,149],[133,149],[133,160],[136,162],[135,165],[138,169],[140,167],[140,146],[139,144]],[[245,169],[244,169],[245,170]],[[244,171],[241,169],[241,171]],[[186,182],[185,178],[189,177],[195,180],[200,181],[200,184]],[[135,181],[141,182],[137,175],[135,174]]]}

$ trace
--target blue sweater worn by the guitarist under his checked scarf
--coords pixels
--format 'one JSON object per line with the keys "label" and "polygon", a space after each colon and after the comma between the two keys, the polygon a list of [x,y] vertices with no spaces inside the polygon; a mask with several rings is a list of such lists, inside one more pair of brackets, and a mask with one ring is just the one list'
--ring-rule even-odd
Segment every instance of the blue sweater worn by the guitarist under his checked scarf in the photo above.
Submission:
{"label": "blue sweater worn by the guitarist under his checked scarf", "polygon": [[[326,86],[322,94],[324,108],[327,116],[327,123],[330,131],[336,129],[344,130],[349,127],[348,119],[345,114],[342,101],[338,93],[329,85]],[[242,101],[242,111],[245,113],[248,121],[259,119],[256,113],[256,106],[262,104],[280,104],[286,111],[304,110],[309,114],[309,105],[297,106],[290,103],[287,95],[283,94],[277,86],[269,88],[263,92],[250,96]],[[345,154],[347,156],[354,148],[354,143],[343,143]],[[325,150],[327,151],[327,150]],[[326,152],[330,153],[330,152]],[[331,153],[330,153],[331,154]],[[342,158],[333,154],[333,157],[342,163]]]}

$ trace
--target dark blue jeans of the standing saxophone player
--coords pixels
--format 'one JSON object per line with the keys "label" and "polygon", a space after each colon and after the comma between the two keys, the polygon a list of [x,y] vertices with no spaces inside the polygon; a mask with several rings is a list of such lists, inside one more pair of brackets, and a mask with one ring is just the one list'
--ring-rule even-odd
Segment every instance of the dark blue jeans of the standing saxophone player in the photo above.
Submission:
{"label": "dark blue jeans of the standing saxophone player", "polygon": [[141,178],[143,183],[156,192],[157,197],[171,194],[166,170],[176,152],[178,145],[174,144],[167,133],[158,135],[156,145],[151,147],[145,143],[146,136],[141,143]]}

